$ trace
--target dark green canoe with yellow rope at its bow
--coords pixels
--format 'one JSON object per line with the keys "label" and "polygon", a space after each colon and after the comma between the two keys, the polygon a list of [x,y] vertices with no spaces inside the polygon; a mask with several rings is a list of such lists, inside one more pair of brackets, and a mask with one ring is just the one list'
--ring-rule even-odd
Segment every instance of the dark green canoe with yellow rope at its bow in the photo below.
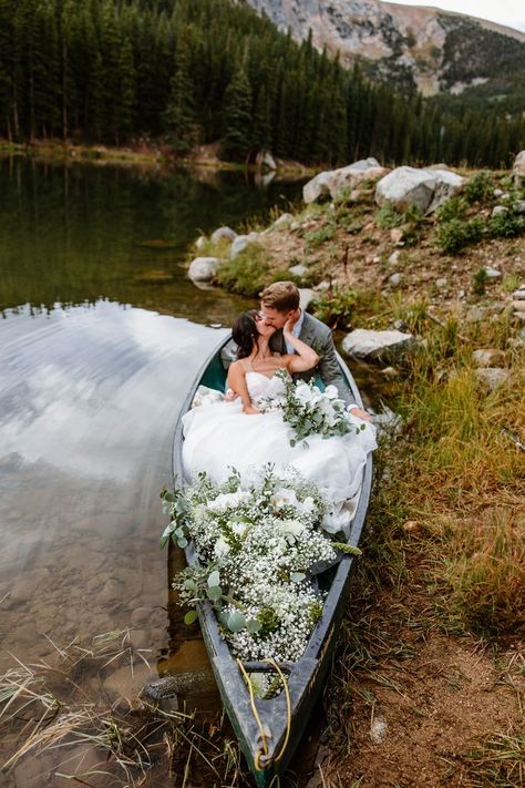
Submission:
{"label": "dark green canoe with yellow rope at its bow", "polygon": [[[220,351],[228,341],[229,338],[223,339],[207,359],[195,378],[181,410],[181,418],[175,429],[173,451],[173,471],[176,483],[184,479],[182,416],[191,408],[199,385],[224,391],[226,372],[222,362]],[[338,357],[338,360],[356,401],[362,406],[359,390],[350,370],[340,357]],[[372,457],[369,454],[348,538],[348,544],[356,547],[359,545],[367,516],[371,482]],[[194,564],[196,556],[193,545],[189,544],[185,552],[187,562]],[[320,585],[328,592],[322,615],[311,633],[301,658],[296,663],[277,665],[285,677],[286,692],[281,692],[270,699],[254,698],[248,690],[237,661],[233,657],[227,643],[220,636],[217,618],[210,603],[204,602],[197,606],[200,628],[224,706],[255,781],[260,788],[278,785],[277,778],[286,771],[290,758],[301,739],[330,666],[339,624],[348,600],[353,567],[354,557],[352,555],[343,555],[334,566],[318,575]],[[266,662],[244,663],[244,669],[247,673],[274,673],[275,666]]]}

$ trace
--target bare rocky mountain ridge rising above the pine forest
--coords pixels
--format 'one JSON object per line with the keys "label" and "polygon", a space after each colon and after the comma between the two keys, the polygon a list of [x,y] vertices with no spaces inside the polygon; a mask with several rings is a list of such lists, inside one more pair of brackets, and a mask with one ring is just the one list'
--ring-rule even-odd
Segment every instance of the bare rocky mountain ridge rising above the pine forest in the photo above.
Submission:
{"label": "bare rocky mountain ridge rising above the pine forest", "polygon": [[465,14],[381,0],[246,0],[281,30],[344,65],[356,59],[371,75],[423,94],[487,85],[507,92],[525,70],[525,33]]}

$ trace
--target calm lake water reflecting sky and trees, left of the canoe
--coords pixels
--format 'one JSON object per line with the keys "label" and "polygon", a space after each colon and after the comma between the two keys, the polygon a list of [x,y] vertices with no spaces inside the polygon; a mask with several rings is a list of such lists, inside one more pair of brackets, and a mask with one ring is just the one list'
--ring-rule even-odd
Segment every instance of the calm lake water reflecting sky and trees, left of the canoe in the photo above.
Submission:
{"label": "calm lake water reflecting sky and trees, left of the canoe", "polygon": [[[181,403],[226,334],[210,326],[247,303],[197,289],[184,259],[199,233],[285,211],[300,185],[0,161],[0,672],[65,653],[71,666],[111,641],[133,675],[121,657],[83,669],[90,702],[166,669],[206,673],[169,598],[159,492]],[[17,725],[1,738],[3,761]],[[60,758],[0,782],[40,786]]]}

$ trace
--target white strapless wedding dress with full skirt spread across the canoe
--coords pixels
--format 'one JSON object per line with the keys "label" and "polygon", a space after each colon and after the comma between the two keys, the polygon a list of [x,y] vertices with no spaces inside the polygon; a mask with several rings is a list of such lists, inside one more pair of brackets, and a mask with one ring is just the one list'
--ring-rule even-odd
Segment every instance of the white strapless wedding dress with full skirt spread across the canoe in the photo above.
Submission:
{"label": "white strapless wedding dress with full skirt spread across the canoe", "polygon": [[[284,391],[280,378],[250,371],[246,385],[254,405],[271,401]],[[350,416],[356,426],[363,422]],[[276,468],[292,465],[316,482],[325,498],[333,504],[332,522],[344,528],[350,521],[360,488],[367,454],[377,448],[375,428],[366,423],[359,432],[350,431],[339,438],[312,434],[307,446],[290,446],[292,430],[280,411],[248,416],[243,413],[240,399],[234,402],[203,405],[183,417],[183,465],[187,480],[198,472],[223,482],[236,468],[241,474],[268,462]]]}

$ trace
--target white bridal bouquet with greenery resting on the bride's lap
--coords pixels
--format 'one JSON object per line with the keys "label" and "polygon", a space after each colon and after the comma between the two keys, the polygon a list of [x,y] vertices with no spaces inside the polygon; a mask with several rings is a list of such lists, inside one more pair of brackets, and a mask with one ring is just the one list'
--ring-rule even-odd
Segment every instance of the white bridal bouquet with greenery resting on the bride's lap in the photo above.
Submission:
{"label": "white bridal bouquet with greenery resting on the bride's lap", "polygon": [[285,385],[282,395],[261,402],[261,410],[280,410],[286,423],[294,431],[290,446],[303,441],[311,434],[323,438],[344,436],[351,430],[359,432],[366,424],[354,424],[344,401],[339,398],[334,386],[321,391],[312,380],[294,381],[286,369],[279,369],[276,377]]}

